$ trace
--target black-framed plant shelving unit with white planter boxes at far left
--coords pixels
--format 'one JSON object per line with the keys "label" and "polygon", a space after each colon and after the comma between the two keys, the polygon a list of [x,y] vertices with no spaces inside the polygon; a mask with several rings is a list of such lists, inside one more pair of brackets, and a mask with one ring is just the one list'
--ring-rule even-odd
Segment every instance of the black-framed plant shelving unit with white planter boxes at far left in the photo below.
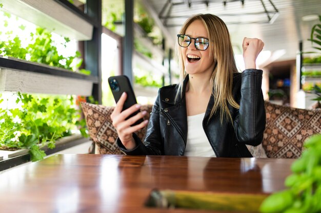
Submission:
{"label": "black-framed plant shelving unit with white planter boxes at far left", "polygon": [[[93,96],[101,103],[101,35],[102,1],[87,0],[86,11],[79,10],[68,0],[10,0],[2,10],[26,19],[35,25],[59,35],[76,39],[83,46],[85,69],[91,75],[71,72],[35,62],[0,57],[0,92],[25,92],[46,94],[77,94]],[[65,139],[62,139],[65,140]],[[77,135],[68,143],[59,143],[46,154],[88,142],[89,138]],[[0,170],[30,161],[27,153],[3,160]]]}

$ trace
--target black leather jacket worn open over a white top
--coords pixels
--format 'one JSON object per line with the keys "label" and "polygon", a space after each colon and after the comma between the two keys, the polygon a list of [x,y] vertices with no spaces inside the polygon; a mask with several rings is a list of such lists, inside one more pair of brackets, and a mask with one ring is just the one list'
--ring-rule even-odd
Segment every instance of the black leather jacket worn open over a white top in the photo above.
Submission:
{"label": "black leather jacket worn open over a white top", "polygon": [[[203,120],[203,129],[215,152],[216,157],[252,157],[246,144],[257,146],[262,142],[266,123],[263,94],[261,90],[262,70],[246,69],[235,73],[232,94],[239,109],[228,105],[232,119],[220,123],[220,115],[214,114],[208,121],[214,97],[211,96]],[[159,89],[158,97],[152,109],[144,144],[133,134],[136,148],[126,150],[119,138],[118,147],[130,155],[180,155],[185,152],[187,140],[187,112],[185,87],[183,97],[178,95],[175,102],[177,85]],[[191,130],[193,131],[193,130]]]}

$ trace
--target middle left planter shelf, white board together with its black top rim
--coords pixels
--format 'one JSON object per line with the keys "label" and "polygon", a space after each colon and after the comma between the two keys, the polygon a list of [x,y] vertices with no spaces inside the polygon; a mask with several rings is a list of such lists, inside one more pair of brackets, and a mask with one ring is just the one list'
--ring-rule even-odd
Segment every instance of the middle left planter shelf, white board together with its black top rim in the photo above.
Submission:
{"label": "middle left planter shelf, white board together with its black top rim", "polygon": [[0,92],[77,94],[91,96],[95,76],[70,70],[0,57]]}

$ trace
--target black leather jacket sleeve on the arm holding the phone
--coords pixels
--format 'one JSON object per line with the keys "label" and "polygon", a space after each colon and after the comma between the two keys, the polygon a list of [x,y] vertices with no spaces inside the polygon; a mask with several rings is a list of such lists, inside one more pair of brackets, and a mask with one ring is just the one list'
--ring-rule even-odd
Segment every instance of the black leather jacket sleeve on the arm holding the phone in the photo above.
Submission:
{"label": "black leather jacket sleeve on the arm holding the phone", "polygon": [[117,145],[125,154],[128,155],[161,155],[163,150],[162,137],[160,136],[159,128],[159,91],[153,106],[149,123],[147,126],[146,137],[144,143],[133,133],[136,147],[132,150],[127,150],[122,141],[117,138]]}

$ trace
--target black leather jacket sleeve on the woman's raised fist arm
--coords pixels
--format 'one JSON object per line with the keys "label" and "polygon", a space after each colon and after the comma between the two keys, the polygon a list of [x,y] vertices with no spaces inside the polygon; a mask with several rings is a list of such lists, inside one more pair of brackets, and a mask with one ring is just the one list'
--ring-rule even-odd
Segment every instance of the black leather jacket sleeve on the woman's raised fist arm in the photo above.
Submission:
{"label": "black leather jacket sleeve on the woman's raised fist arm", "polygon": [[262,143],[266,114],[260,69],[246,69],[242,73],[239,110],[234,120],[234,131],[241,143],[257,146]]}

